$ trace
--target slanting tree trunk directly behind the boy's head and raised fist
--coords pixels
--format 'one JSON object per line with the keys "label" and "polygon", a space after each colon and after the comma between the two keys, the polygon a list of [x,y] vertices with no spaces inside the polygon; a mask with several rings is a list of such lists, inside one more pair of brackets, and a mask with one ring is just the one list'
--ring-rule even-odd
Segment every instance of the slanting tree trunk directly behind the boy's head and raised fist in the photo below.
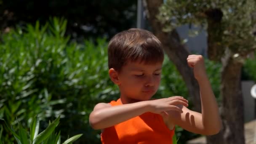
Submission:
{"label": "slanting tree trunk directly behind the boy's head and raised fist", "polygon": [[192,69],[187,65],[187,56],[189,55],[189,52],[185,49],[184,45],[181,45],[179,34],[175,30],[168,33],[163,32],[162,24],[156,18],[159,13],[158,8],[162,3],[163,0],[144,0],[147,18],[153,33],[161,41],[165,53],[168,55],[169,59],[173,61],[185,81],[189,96],[195,106],[193,110],[201,112],[199,85],[194,77]]}

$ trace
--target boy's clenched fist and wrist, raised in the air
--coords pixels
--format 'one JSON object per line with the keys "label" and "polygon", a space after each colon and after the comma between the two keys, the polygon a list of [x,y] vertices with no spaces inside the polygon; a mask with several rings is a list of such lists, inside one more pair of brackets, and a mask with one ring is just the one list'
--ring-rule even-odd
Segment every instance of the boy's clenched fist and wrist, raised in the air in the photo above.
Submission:
{"label": "boy's clenched fist and wrist, raised in the air", "polygon": [[194,70],[194,76],[197,80],[202,77],[207,77],[205,72],[205,64],[203,56],[201,55],[189,55],[187,57],[187,63],[189,67],[192,67]]}

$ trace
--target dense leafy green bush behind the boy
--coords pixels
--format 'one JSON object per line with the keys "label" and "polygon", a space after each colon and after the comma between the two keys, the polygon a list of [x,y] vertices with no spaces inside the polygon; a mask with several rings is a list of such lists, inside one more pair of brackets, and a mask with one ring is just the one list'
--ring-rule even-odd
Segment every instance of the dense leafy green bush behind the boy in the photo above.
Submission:
{"label": "dense leafy green bush behind the boy", "polygon": [[[100,131],[88,122],[95,104],[119,97],[119,91],[108,76],[107,42],[85,40],[77,43],[64,37],[67,21],[51,19],[41,26],[18,27],[2,35],[0,43],[0,118],[18,131],[21,123],[28,129],[35,115],[41,121],[40,131],[48,120],[60,115],[56,128],[64,140],[68,135],[83,133],[76,141],[99,144]],[[213,90],[219,95],[219,64],[206,60]],[[189,99],[179,72],[165,57],[160,89],[155,98],[182,95]],[[189,104],[190,107],[192,104]],[[179,142],[195,136],[176,128]],[[15,138],[3,131],[5,144]]]}

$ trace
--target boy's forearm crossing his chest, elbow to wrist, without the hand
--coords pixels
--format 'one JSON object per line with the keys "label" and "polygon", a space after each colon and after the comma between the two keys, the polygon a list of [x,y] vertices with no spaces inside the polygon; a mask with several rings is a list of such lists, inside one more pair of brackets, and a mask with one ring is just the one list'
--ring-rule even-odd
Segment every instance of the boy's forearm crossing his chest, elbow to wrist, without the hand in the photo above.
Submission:
{"label": "boy's forearm crossing his chest, elbow to wrist, without the hand", "polygon": [[90,115],[90,124],[94,129],[103,129],[129,120],[149,111],[147,101],[123,104],[96,110]]}

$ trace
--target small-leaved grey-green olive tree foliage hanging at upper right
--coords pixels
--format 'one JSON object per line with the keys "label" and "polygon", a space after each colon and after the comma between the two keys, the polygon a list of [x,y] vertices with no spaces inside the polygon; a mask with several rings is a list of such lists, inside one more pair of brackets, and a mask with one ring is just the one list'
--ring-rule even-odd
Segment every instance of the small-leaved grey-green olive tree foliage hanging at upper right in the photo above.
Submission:
{"label": "small-leaved grey-green olive tree foliage hanging at upper right", "polygon": [[217,45],[221,45],[222,49],[228,48],[238,58],[256,48],[253,34],[255,6],[255,0],[166,0],[160,8],[158,19],[165,24],[165,32],[182,24],[194,24],[208,29],[211,19],[217,26],[213,29]]}

